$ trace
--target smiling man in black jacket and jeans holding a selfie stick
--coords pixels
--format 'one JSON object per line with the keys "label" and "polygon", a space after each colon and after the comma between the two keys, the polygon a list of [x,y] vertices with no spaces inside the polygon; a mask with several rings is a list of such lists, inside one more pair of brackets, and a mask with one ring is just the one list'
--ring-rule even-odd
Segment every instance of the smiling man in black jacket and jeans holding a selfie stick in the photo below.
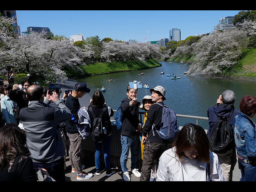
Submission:
{"label": "smiling man in black jacket and jeans holding a selfie stick", "polygon": [[130,181],[128,168],[126,167],[129,150],[131,150],[131,170],[136,177],[140,177],[137,166],[137,150],[138,150],[138,133],[141,129],[141,123],[138,119],[139,106],[136,98],[136,90],[128,86],[126,92],[128,98],[122,100],[120,108],[122,110],[122,128],[121,128],[121,144],[122,154],[120,164],[125,181]]}

